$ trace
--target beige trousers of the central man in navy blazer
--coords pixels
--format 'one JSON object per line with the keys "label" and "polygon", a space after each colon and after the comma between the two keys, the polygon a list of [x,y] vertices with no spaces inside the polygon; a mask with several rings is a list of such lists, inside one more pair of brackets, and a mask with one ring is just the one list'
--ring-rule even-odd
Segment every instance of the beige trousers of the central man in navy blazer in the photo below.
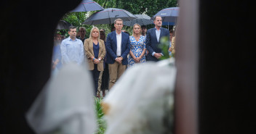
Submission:
{"label": "beige trousers of the central man in navy blazer", "polygon": [[121,75],[126,70],[127,65],[119,64],[119,62],[114,62],[113,64],[108,64],[109,70],[109,87],[108,89],[111,90],[112,86],[116,83]]}

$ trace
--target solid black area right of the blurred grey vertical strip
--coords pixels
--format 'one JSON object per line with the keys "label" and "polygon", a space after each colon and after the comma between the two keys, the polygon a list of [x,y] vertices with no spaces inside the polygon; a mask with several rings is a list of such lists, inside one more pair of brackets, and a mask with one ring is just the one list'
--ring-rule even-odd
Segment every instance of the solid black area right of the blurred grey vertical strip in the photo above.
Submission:
{"label": "solid black area right of the blurred grey vertical strip", "polygon": [[256,89],[253,4],[200,0],[199,5],[199,133],[250,133],[255,106],[250,91]]}

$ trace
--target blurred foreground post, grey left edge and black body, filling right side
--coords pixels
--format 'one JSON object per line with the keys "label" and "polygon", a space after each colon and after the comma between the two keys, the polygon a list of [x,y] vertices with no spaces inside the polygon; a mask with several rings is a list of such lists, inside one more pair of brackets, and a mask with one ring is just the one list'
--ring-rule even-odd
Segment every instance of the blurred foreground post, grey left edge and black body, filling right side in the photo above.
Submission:
{"label": "blurred foreground post, grey left edge and black body, filling right side", "polygon": [[238,0],[180,1],[176,134],[255,131],[252,5],[251,1]]}

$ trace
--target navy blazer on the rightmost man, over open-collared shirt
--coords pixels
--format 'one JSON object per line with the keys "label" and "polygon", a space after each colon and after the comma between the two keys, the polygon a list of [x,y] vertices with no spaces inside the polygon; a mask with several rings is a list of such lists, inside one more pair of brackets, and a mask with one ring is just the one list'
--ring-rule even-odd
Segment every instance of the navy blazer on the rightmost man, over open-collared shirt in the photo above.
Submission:
{"label": "navy blazer on the rightmost man, over open-collared shirt", "polygon": [[[160,28],[160,30],[161,30],[161,33],[160,33],[159,41],[163,36],[167,36],[169,38],[169,30],[167,30],[166,28]],[[160,43],[161,42],[158,42],[156,38],[156,28],[149,29],[147,32],[146,40],[145,40],[145,46],[148,50],[147,60],[159,61],[159,59],[157,59],[155,56],[152,56],[152,53],[154,51],[156,53],[162,52],[161,49],[159,48]]]}

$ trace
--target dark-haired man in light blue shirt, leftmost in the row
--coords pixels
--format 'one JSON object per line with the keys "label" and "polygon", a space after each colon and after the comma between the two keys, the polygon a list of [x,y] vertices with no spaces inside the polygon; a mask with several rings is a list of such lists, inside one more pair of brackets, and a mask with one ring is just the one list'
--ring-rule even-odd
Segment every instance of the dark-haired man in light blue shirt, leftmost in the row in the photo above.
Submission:
{"label": "dark-haired man in light blue shirt, leftmost in the row", "polygon": [[76,38],[76,27],[68,28],[69,37],[62,41],[60,51],[63,64],[70,62],[82,64],[84,62],[84,45],[81,40]]}

